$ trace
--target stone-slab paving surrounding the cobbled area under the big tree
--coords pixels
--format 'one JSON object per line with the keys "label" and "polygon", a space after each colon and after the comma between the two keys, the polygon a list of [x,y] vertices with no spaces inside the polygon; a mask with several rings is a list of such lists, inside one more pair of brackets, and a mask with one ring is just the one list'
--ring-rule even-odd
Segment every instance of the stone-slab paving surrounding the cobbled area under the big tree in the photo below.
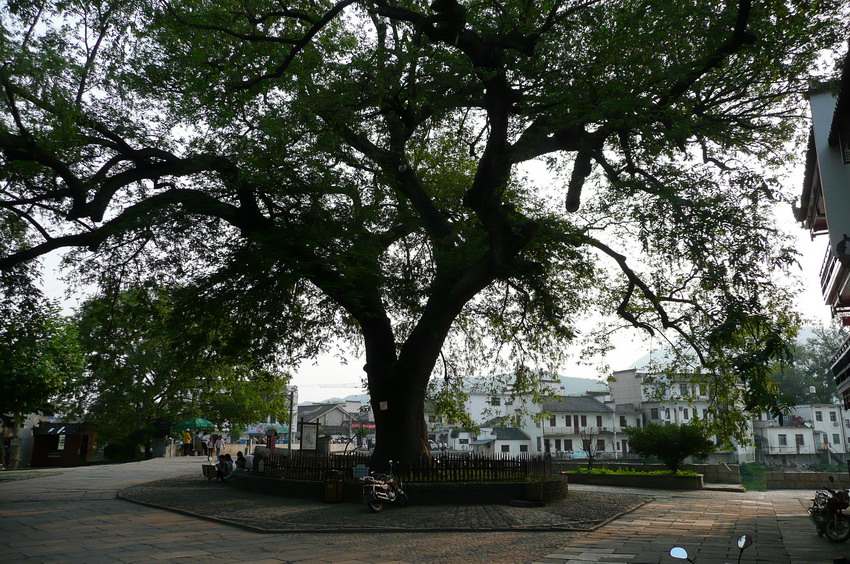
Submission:
{"label": "stone-slab paving surrounding the cobbled area under the big tree", "polygon": [[731,547],[743,532],[756,543],[742,562],[832,564],[850,557],[850,544],[815,535],[804,508],[810,492],[638,490],[656,501],[591,533],[266,535],[115,498],[133,484],[197,472],[198,461],[165,458],[0,483],[0,562],[635,564],[680,562],[666,555],[680,544],[697,564],[708,564],[734,562]]}

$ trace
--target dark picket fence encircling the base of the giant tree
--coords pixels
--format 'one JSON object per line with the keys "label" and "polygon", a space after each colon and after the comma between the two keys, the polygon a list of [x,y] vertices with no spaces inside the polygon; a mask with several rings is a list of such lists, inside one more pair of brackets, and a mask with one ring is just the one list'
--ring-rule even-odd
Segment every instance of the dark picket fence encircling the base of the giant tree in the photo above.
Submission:
{"label": "dark picket fence encircling the base of the giant tree", "polygon": [[[260,472],[259,461],[263,461]],[[298,480],[324,480],[335,471],[343,480],[354,480],[355,466],[369,467],[369,455],[364,453],[317,455],[312,452],[276,452],[274,456],[259,455],[254,471],[260,475]],[[552,474],[549,456],[485,456],[477,453],[433,453],[430,468],[393,468],[397,478],[406,482],[501,482],[540,479]]]}

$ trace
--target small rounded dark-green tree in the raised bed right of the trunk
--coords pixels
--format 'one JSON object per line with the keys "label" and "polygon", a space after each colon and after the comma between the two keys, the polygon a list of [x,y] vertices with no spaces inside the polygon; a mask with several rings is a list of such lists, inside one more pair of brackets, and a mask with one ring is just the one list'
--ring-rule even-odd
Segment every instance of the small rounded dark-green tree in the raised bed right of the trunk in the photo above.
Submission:
{"label": "small rounded dark-green tree in the raised bed right of the trunk", "polygon": [[697,425],[629,427],[629,448],[641,456],[655,456],[674,473],[689,456],[706,457],[715,451],[705,431]]}

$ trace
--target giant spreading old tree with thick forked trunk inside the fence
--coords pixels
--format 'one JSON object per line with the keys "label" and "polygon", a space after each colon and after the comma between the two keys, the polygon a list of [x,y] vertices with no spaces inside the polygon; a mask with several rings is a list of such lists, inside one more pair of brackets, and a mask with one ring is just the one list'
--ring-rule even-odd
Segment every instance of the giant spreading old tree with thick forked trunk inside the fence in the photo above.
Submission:
{"label": "giant spreading old tree with thick forked trunk inside the fence", "polygon": [[42,241],[0,268],[79,248],[293,362],[362,346],[378,464],[427,461],[435,366],[544,366],[597,306],[687,343],[718,409],[764,407],[793,323],[772,167],[843,7],[15,2],[0,206]]}

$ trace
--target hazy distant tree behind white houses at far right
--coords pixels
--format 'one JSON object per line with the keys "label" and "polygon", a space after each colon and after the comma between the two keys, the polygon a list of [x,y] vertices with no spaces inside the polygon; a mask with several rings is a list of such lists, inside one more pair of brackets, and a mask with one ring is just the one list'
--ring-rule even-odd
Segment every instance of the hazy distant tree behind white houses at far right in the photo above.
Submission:
{"label": "hazy distant tree behind white houses at far right", "polygon": [[[793,343],[793,360],[773,374],[781,396],[797,405],[835,401],[835,378],[830,371],[832,357],[846,338],[846,331],[831,325],[817,327],[813,336]],[[814,392],[809,390],[811,387]]]}

